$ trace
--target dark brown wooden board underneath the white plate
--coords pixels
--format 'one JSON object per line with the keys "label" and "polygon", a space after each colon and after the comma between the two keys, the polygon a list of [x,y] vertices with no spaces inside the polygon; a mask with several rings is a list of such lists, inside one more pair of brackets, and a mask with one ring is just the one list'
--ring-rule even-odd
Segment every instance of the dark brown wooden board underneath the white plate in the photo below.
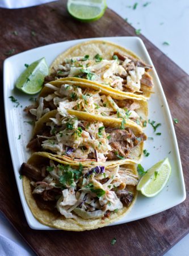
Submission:
{"label": "dark brown wooden board underneath the white plate", "polygon": [[[135,30],[114,11],[93,23],[81,23],[66,13],[65,1],[19,10],[0,9],[1,96],[2,61],[5,52],[26,51],[45,44],[99,36],[135,36]],[[17,34],[16,31],[18,33]],[[33,31],[33,32],[32,32]],[[173,61],[140,36],[161,79],[173,117],[183,164],[187,195],[189,191],[188,144],[189,76]],[[175,49],[175,50],[179,50]],[[184,56],[183,56],[184,57]],[[27,63],[27,60],[26,60]],[[11,76],[11,73],[10,73]],[[8,99],[7,99],[8,100]],[[128,224],[81,233],[32,230],[24,217],[12,170],[1,100],[0,209],[38,255],[162,255],[189,231],[189,200],[177,207]],[[117,242],[112,246],[111,240]]]}

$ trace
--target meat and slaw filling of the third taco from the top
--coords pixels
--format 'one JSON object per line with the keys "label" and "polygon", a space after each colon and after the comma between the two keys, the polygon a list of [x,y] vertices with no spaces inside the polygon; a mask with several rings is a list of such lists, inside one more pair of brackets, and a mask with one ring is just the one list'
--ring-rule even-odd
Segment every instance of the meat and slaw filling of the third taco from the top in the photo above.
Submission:
{"label": "meat and slaw filling of the third taco from the top", "polygon": [[145,141],[146,135],[140,133],[136,136],[124,124],[125,119],[120,126],[117,124],[119,127],[104,127],[102,122],[82,121],[60,112],[44,123],[40,134],[27,147],[35,151],[42,148],[72,159],[94,159],[96,162],[131,158],[131,150]]}

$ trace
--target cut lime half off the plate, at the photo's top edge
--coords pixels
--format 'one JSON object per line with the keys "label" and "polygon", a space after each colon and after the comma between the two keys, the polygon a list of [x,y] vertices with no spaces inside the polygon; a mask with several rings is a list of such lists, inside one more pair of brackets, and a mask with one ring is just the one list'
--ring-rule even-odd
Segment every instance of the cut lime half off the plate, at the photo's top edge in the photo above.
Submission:
{"label": "cut lime half off the plate, at the photo's top edge", "polygon": [[69,14],[82,22],[98,20],[107,8],[106,0],[68,0]]}

